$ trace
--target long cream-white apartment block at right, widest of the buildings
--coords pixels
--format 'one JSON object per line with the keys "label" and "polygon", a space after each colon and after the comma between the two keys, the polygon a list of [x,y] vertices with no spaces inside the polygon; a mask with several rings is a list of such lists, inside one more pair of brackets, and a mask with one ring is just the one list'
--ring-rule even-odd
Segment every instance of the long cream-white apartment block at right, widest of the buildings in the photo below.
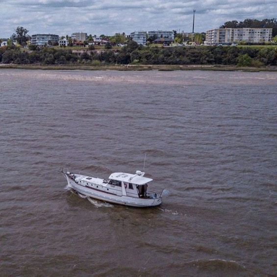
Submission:
{"label": "long cream-white apartment block at right, widest of the buildings", "polygon": [[206,44],[232,44],[268,42],[272,39],[272,28],[224,28],[206,31]]}

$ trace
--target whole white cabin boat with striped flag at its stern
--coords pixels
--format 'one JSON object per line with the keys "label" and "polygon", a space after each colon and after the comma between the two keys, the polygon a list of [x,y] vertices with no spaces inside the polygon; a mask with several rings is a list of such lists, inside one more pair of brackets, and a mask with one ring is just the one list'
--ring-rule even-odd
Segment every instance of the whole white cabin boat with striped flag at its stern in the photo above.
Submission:
{"label": "whole white cabin boat with striped flag at its stern", "polygon": [[59,170],[67,179],[68,186],[76,192],[101,201],[133,207],[158,206],[162,196],[169,193],[164,189],[161,193],[148,189],[151,178],[144,177],[144,172],[135,174],[112,173],[109,179],[101,179],[92,175],[71,172],[62,167]]}

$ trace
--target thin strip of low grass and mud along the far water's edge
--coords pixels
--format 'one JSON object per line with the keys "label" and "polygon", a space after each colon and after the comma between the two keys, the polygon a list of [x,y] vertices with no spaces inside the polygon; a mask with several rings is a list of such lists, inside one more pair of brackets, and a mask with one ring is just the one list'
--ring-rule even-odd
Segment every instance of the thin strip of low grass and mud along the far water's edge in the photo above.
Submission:
{"label": "thin strip of low grass and mud along the far water's edge", "polygon": [[222,65],[38,65],[38,64],[0,64],[0,69],[25,69],[25,70],[118,70],[118,71],[175,71],[175,70],[202,70],[202,71],[244,71],[277,72],[277,67],[238,67]]}

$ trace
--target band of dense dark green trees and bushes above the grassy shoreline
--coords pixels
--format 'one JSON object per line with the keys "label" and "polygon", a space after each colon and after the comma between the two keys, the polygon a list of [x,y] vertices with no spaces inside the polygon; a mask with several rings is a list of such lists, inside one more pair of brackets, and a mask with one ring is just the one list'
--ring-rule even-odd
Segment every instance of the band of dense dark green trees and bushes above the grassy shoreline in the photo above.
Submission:
{"label": "band of dense dark green trees and bushes above the grassy shoreline", "polygon": [[121,49],[80,50],[36,48],[22,50],[16,46],[0,48],[3,64],[39,65],[232,65],[277,66],[276,47],[143,47],[129,41]]}

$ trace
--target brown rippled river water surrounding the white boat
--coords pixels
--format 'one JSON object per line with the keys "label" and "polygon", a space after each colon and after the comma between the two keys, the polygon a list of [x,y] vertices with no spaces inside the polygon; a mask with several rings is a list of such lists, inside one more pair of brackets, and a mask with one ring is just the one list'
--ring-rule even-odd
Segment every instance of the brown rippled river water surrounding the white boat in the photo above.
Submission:
{"label": "brown rippled river water surrounding the white boat", "polygon": [[[58,173],[143,170],[153,208]],[[277,74],[0,69],[0,276],[276,276]]]}

